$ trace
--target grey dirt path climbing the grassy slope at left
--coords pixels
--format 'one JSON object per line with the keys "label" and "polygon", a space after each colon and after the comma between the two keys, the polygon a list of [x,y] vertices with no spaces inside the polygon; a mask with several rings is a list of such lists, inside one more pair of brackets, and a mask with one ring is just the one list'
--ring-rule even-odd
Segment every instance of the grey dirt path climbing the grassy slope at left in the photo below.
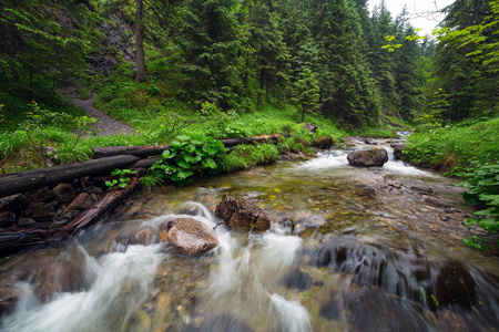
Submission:
{"label": "grey dirt path climbing the grassy slope at left", "polygon": [[74,96],[69,97],[69,101],[77,107],[85,111],[90,117],[96,118],[99,122],[95,124],[95,128],[98,129],[96,134],[99,136],[111,136],[111,135],[132,135],[134,129],[125,123],[116,121],[109,116],[108,114],[102,113],[98,108],[93,106],[93,102],[95,97],[92,95],[88,100],[80,100]]}

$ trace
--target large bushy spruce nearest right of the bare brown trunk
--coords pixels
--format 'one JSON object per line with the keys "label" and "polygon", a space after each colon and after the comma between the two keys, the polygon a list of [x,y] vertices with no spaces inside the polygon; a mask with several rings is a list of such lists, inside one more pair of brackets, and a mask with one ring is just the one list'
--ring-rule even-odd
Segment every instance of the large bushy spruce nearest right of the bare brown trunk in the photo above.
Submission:
{"label": "large bushy spruce nearest right of the bare brown trunk", "polygon": [[190,0],[184,8],[184,86],[195,104],[238,108],[244,98],[241,54],[246,42],[234,14],[233,0]]}

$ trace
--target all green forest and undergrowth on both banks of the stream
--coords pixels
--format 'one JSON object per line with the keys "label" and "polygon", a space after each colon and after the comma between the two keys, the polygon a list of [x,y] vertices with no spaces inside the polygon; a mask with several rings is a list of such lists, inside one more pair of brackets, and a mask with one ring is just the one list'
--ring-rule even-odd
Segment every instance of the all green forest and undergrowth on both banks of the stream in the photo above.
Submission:
{"label": "all green forest and undergrowth on both banks of the stream", "polygon": [[[431,38],[407,10],[394,18],[381,2],[369,12],[366,0],[1,1],[0,166],[172,143],[145,181],[184,184],[349,134],[395,136],[410,123],[404,158],[465,176],[495,218],[497,193],[480,172],[499,163],[499,2],[456,0],[442,11]],[[90,135],[93,120],[58,93],[67,86],[95,95],[136,134]],[[269,133],[293,136],[230,154],[216,143]],[[116,173],[110,185],[126,178]]]}

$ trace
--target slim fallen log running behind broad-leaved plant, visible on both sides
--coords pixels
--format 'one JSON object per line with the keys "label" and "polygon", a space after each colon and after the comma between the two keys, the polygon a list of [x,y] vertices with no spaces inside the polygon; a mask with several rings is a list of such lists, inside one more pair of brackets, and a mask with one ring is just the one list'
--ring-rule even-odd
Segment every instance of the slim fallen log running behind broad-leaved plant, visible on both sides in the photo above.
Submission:
{"label": "slim fallen log running behind broad-leaved plant, visible on both sides", "polygon": [[[231,138],[231,139],[222,139],[221,142],[225,147],[232,147],[237,144],[244,143],[259,143],[259,142],[268,142],[276,141],[279,137],[289,137],[289,134],[272,134],[272,135],[262,135],[254,136],[247,138]],[[96,146],[92,148],[93,158],[105,158],[111,156],[119,155],[133,155],[140,157],[149,157],[149,156],[159,156],[164,151],[169,149],[170,145],[150,145],[150,146]]]}

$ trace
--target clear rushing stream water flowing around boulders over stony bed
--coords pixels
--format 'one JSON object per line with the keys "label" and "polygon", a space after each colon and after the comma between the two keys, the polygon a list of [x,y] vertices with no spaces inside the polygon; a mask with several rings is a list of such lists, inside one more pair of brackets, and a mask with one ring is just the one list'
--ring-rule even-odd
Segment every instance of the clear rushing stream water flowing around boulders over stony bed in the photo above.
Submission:
{"label": "clear rushing stream water flowing around boulders over stony bed", "polygon": [[[0,264],[0,286],[21,294],[0,331],[499,331],[498,252],[462,245],[468,207],[454,184],[394,159],[350,167],[330,151],[144,194],[68,243]],[[215,227],[226,193],[278,222],[217,226],[220,246],[202,257],[159,240],[179,216]]]}

